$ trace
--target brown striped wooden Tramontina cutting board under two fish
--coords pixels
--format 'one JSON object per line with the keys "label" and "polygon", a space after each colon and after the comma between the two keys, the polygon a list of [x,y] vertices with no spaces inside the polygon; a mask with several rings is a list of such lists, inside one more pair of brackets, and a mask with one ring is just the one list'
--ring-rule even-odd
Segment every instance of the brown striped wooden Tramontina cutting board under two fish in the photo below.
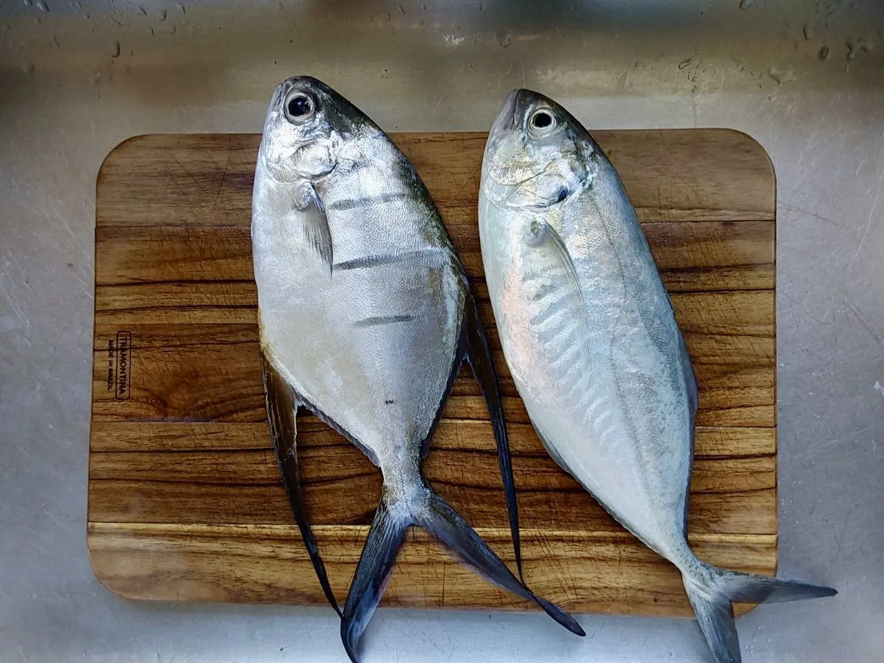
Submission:
{"label": "brown striped wooden Tramontina cutting board under two fish", "polygon": [[[774,574],[777,544],[773,168],[721,129],[599,131],[685,332],[700,388],[690,541],[713,564]],[[476,196],[484,133],[398,133],[446,219],[488,327],[514,453],[530,586],[575,613],[690,615],[681,577],[545,453],[499,350]],[[264,418],[249,223],[260,136],[147,135],[114,149],[95,202],[88,549],[129,598],[325,603]],[[340,601],[380,476],[311,416],[307,501]],[[491,425],[461,371],[425,463],[514,568]],[[387,606],[531,608],[409,535]]]}

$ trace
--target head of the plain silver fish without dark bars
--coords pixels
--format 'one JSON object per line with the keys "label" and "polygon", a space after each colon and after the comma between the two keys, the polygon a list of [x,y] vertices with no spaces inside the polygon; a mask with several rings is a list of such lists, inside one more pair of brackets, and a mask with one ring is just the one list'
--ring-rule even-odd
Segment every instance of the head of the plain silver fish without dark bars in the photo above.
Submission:
{"label": "head of the plain silver fish without dark bars", "polygon": [[566,204],[592,186],[601,154],[568,110],[537,92],[514,90],[485,143],[483,193],[508,208]]}

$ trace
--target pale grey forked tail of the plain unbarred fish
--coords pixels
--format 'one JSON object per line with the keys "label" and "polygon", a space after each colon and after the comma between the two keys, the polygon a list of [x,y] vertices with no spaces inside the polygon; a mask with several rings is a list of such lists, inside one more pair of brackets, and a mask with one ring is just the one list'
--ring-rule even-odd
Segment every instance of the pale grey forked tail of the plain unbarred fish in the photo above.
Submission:
{"label": "pale grey forked tail of the plain unbarred fish", "polygon": [[690,605],[694,607],[700,630],[713,651],[716,663],[740,663],[741,660],[731,601],[785,603],[838,593],[823,585],[737,573],[703,562],[700,562],[695,573],[684,574],[683,580]]}

